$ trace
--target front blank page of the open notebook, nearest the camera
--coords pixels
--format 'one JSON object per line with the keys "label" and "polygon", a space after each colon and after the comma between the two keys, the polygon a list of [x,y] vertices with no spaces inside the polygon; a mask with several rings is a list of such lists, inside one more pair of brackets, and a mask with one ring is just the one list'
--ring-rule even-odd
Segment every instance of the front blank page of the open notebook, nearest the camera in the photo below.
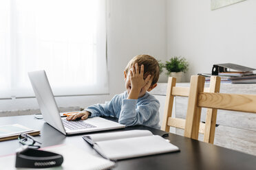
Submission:
{"label": "front blank page of the open notebook, nearest the camera", "polygon": [[178,147],[158,135],[100,141],[94,145],[94,149],[111,160],[162,154],[179,150]]}

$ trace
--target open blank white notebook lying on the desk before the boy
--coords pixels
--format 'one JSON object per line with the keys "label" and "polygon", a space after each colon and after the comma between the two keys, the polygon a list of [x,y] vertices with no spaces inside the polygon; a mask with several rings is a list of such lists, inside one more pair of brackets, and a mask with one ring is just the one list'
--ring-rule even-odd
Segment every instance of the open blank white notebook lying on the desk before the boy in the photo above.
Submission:
{"label": "open blank white notebook lying on the desk before the boy", "polygon": [[110,160],[120,160],[153,154],[178,151],[179,148],[148,130],[129,130],[84,135],[100,155]]}

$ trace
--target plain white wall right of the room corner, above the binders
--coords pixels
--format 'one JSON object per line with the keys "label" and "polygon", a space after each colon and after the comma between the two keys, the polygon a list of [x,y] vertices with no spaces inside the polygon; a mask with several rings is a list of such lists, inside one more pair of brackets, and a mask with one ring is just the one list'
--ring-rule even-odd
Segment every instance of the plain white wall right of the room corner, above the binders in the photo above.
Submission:
{"label": "plain white wall right of the room corner, above the binders", "polygon": [[256,68],[256,1],[211,11],[211,0],[167,0],[167,56],[189,60],[189,75],[231,62]]}

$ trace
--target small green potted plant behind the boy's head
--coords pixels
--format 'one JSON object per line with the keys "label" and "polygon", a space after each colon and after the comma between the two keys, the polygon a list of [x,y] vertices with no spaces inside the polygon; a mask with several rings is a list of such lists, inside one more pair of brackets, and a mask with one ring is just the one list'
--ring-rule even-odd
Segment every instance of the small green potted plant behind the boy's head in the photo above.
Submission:
{"label": "small green potted plant behind the boy's head", "polygon": [[175,77],[176,82],[181,82],[182,76],[189,68],[189,62],[185,58],[174,56],[169,61],[165,62],[167,75]]}

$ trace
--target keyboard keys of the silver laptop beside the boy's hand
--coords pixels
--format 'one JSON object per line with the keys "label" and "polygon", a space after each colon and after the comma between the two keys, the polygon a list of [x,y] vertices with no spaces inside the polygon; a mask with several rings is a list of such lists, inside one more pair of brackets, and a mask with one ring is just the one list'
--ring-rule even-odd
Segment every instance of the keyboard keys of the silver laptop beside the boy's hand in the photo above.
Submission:
{"label": "keyboard keys of the silver laptop beside the boy's hand", "polygon": [[63,125],[70,130],[78,130],[85,128],[96,127],[95,125],[91,125],[89,123],[85,123],[84,121],[67,121],[66,119],[62,119]]}

